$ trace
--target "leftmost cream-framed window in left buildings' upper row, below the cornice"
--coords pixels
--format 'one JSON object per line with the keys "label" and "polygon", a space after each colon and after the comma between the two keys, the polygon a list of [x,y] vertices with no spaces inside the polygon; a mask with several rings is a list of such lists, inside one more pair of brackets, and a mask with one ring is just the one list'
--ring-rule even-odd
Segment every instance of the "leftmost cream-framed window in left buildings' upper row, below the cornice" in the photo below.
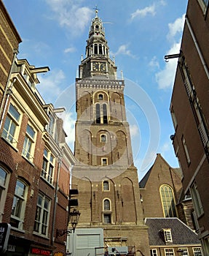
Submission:
{"label": "leftmost cream-framed window in left buildings' upper row, below the cornice", "polygon": [[20,113],[14,105],[9,105],[9,110],[4,123],[4,129],[2,137],[12,143],[13,146],[17,146],[17,136],[20,126]]}

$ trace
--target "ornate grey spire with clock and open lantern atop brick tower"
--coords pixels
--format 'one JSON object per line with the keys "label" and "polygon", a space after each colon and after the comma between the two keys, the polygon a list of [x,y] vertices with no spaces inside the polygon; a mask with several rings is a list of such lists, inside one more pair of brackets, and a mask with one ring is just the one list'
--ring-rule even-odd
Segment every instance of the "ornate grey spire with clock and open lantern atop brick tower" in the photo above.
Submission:
{"label": "ornate grey spire with clock and open lantern atop brick tower", "polygon": [[117,79],[117,67],[114,61],[109,58],[109,46],[105,37],[103,22],[98,17],[97,7],[87,39],[85,59],[79,65],[79,78],[92,78],[94,76]]}

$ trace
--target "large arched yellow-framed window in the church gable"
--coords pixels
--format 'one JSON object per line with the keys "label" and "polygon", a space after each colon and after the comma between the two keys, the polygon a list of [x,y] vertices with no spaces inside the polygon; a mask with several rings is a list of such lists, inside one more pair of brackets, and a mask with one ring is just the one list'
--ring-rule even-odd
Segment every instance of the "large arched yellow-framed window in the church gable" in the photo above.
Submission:
{"label": "large arched yellow-framed window in the church gable", "polygon": [[162,185],[162,187],[160,187],[160,196],[164,216],[176,217],[176,206],[175,199],[173,197],[173,189],[170,186]]}

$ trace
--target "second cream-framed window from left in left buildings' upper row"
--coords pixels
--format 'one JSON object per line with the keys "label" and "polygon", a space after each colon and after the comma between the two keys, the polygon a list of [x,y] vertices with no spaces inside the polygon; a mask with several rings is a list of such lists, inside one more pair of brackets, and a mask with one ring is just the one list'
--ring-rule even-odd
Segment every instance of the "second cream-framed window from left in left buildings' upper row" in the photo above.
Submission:
{"label": "second cream-framed window from left in left buildings' upper row", "polygon": [[36,135],[36,132],[34,131],[33,127],[31,127],[31,125],[28,124],[26,128],[22,154],[31,162],[33,162],[35,135]]}

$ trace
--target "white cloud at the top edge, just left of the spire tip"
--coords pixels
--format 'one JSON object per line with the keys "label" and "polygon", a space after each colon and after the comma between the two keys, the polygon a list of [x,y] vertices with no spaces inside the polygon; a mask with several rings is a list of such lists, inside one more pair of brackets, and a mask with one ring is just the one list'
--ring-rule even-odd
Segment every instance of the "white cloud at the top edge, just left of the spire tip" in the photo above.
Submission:
{"label": "white cloud at the top edge, just left of the spire tip", "polygon": [[60,26],[71,29],[73,34],[81,34],[89,25],[92,10],[88,7],[80,7],[81,1],[75,0],[46,0],[55,13],[55,19]]}

